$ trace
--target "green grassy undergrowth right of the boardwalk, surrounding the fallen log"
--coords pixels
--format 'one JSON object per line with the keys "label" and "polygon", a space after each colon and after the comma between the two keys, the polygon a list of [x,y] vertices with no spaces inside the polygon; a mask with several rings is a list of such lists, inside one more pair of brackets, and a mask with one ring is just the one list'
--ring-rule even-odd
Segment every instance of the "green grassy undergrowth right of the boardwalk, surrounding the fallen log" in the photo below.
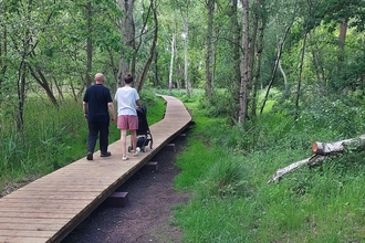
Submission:
{"label": "green grassy undergrowth right of the boardwalk, surrounding the fallen log", "polygon": [[[265,112],[232,127],[194,109],[196,126],[176,161],[176,188],[194,194],[175,211],[182,242],[364,242],[365,152],[348,151],[267,184],[278,169],[309,158],[314,140],[361,135],[363,122],[341,110],[336,106],[328,117],[312,110],[296,122]],[[350,133],[344,120],[357,129]]]}

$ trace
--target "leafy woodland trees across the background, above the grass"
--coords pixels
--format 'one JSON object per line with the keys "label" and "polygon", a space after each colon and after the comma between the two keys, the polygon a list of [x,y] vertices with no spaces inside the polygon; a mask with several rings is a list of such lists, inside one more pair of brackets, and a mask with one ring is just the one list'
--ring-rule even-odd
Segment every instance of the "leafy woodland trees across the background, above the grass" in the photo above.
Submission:
{"label": "leafy woodland trees across the background, above the grass", "polygon": [[[294,119],[307,99],[364,86],[364,1],[150,0],[0,2],[0,101],[17,130],[29,95],[77,102],[96,72],[115,89],[205,88],[233,122],[261,114],[278,88]],[[225,101],[217,89],[226,88]],[[258,101],[259,92],[264,98]],[[219,96],[219,95],[218,95]],[[285,112],[288,112],[285,110]]]}

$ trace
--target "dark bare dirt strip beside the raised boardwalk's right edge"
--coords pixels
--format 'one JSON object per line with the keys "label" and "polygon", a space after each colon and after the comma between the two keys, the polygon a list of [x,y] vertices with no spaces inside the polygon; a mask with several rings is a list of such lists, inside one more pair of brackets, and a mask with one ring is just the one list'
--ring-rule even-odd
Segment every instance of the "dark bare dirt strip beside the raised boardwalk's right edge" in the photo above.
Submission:
{"label": "dark bare dirt strip beside the raised boardwalk's right edge", "polygon": [[175,158],[186,138],[173,142],[176,151],[161,150],[152,159],[158,161],[157,172],[140,170],[118,190],[128,192],[125,208],[97,208],[62,243],[181,242],[182,232],[171,222],[174,207],[189,200],[174,190]]}

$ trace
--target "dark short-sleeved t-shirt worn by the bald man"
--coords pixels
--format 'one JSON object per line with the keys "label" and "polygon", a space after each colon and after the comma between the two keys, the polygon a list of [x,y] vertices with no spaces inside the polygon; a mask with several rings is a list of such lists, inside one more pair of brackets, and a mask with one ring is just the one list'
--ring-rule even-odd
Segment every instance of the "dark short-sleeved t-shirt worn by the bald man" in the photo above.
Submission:
{"label": "dark short-sleeved t-shirt worn by the bald man", "polygon": [[107,104],[113,99],[107,87],[102,84],[90,86],[83,101],[87,103],[87,122],[109,122]]}

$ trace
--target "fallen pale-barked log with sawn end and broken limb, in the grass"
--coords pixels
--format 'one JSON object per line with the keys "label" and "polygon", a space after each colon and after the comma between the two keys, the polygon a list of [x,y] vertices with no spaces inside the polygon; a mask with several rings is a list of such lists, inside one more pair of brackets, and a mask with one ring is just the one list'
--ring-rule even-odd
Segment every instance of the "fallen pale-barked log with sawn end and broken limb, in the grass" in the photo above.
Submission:
{"label": "fallen pale-barked log with sawn end and broken limb, in the grass", "polygon": [[312,157],[298,162],[293,162],[284,168],[277,170],[277,172],[268,181],[268,184],[279,181],[283,176],[302,166],[321,165],[327,158],[327,156],[338,155],[346,150],[365,150],[365,135],[362,135],[357,138],[351,138],[335,142],[314,141],[312,144]]}

